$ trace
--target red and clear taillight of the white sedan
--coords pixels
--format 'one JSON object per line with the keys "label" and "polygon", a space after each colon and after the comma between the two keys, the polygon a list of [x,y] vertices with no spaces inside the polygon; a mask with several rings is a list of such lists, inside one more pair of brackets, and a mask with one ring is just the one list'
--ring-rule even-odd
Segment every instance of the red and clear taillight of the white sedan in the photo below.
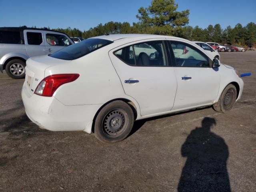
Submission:
{"label": "red and clear taillight of the white sedan", "polygon": [[76,80],[79,74],[56,74],[44,78],[37,86],[35,94],[51,97],[59,86]]}

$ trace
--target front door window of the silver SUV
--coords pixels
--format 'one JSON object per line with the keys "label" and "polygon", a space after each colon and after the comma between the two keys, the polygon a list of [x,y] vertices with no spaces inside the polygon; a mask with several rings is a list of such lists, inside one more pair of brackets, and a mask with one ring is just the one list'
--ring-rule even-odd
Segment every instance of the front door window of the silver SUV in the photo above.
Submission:
{"label": "front door window of the silver SUV", "polygon": [[69,46],[72,43],[68,40],[68,38],[64,35],[60,34],[46,34],[46,40],[49,45],[52,46]]}

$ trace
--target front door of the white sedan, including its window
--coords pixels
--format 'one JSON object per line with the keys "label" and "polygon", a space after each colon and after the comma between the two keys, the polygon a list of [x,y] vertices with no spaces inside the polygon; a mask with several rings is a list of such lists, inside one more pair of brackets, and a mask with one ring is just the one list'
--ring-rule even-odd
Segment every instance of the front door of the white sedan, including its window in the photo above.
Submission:
{"label": "front door of the white sedan, including its window", "polygon": [[186,110],[213,103],[220,87],[218,69],[210,66],[210,58],[192,44],[171,41],[177,77],[177,93],[173,110]]}

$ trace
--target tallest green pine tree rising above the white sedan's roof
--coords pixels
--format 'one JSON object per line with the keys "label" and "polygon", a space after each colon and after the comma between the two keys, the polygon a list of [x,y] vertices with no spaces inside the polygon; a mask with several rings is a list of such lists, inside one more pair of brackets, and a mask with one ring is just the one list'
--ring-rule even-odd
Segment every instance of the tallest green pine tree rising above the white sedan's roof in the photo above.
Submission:
{"label": "tallest green pine tree rising above the white sedan's roof", "polygon": [[136,27],[150,34],[170,35],[176,28],[181,31],[180,26],[188,24],[189,10],[178,12],[177,8],[174,0],[152,0],[150,6],[138,10],[141,27]]}

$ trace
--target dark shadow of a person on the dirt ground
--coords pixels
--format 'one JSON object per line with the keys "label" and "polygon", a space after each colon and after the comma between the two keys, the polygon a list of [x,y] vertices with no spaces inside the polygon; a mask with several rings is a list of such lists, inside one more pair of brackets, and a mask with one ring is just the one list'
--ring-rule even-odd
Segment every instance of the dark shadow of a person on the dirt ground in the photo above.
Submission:
{"label": "dark shadow of a person on the dirt ground", "polygon": [[226,161],[228,146],[223,138],[210,131],[214,118],[204,118],[202,127],[191,131],[182,145],[187,157],[178,192],[230,192]]}

